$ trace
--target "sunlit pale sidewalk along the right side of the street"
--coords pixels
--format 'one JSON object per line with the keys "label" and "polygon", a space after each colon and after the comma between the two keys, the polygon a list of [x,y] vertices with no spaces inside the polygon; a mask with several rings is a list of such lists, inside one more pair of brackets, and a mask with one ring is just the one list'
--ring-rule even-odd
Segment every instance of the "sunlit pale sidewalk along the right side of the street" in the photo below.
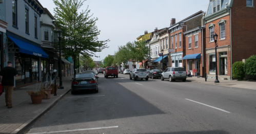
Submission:
{"label": "sunlit pale sidewalk along the right side of the street", "polygon": [[196,77],[189,77],[187,81],[191,82],[198,82],[203,84],[211,84],[211,85],[222,85],[228,87],[239,87],[239,88],[247,88],[250,90],[256,90],[256,82],[255,81],[238,81],[238,80],[219,80],[220,83],[214,83],[215,79],[207,79],[205,78],[196,78]]}

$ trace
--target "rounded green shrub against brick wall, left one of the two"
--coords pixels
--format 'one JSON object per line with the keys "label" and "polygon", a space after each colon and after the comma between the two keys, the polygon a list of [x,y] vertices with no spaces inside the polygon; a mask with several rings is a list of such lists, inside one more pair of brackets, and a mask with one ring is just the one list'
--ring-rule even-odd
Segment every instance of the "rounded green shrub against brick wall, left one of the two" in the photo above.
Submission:
{"label": "rounded green shrub against brick wall, left one of the two", "polygon": [[232,65],[232,77],[243,79],[245,77],[243,61],[234,62]]}

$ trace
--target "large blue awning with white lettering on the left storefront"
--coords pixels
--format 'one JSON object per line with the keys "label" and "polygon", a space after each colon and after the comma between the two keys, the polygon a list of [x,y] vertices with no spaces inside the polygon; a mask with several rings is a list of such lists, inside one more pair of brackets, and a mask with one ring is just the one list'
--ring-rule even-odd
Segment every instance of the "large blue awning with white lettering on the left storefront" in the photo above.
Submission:
{"label": "large blue awning with white lettering on the left storefront", "polygon": [[18,47],[20,53],[30,54],[38,57],[48,58],[48,55],[39,47],[22,40],[8,36]]}

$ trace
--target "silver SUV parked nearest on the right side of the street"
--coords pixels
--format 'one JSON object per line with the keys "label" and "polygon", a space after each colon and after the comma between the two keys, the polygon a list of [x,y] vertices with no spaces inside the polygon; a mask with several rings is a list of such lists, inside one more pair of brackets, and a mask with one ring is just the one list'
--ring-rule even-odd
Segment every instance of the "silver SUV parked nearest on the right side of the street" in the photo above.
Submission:
{"label": "silver SUV parked nearest on the right side of the street", "polygon": [[183,82],[186,81],[187,78],[187,72],[186,69],[183,67],[170,67],[167,68],[162,74],[161,74],[161,80],[169,79],[170,82],[175,80],[182,80]]}

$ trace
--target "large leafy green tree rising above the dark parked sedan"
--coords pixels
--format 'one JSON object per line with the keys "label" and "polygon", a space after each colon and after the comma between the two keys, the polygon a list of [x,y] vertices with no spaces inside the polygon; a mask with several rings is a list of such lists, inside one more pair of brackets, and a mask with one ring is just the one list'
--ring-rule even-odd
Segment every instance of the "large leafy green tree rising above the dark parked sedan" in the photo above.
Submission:
{"label": "large leafy green tree rising above the dark parked sedan", "polygon": [[[78,13],[85,0],[53,0],[55,23],[63,31],[61,47],[67,56],[78,57],[78,55],[95,56],[95,52],[101,52],[108,48],[106,42],[99,41],[97,36],[100,31],[95,25],[98,18],[92,18],[90,10]],[[95,56],[97,57],[97,56]],[[74,65],[76,65],[74,58]],[[77,68],[74,66],[74,70]]]}

